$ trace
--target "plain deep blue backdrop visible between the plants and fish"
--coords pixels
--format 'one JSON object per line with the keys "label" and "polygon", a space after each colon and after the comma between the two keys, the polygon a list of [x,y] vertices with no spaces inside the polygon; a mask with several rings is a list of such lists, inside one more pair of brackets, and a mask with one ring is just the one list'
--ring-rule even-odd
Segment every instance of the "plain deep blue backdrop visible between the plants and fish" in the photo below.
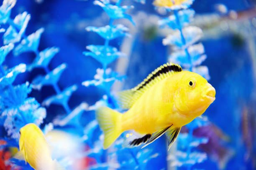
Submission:
{"label": "plain deep blue backdrop visible between the plants and fish", "polygon": [[[251,2],[245,0],[195,0],[192,8],[197,14],[215,12],[213,7],[216,3],[225,4],[228,9],[244,10],[249,7]],[[151,1],[146,1],[146,5],[134,3],[136,10],[143,10],[146,13],[156,14]],[[79,103],[86,101],[94,104],[100,100],[104,91],[94,87],[82,87],[81,82],[84,80],[92,80],[95,70],[101,67],[100,63],[92,57],[85,57],[82,52],[85,47],[90,44],[104,44],[104,40],[93,32],[85,31],[85,27],[100,16],[102,9],[92,4],[92,1],[77,0],[44,0],[43,3],[37,4],[31,0],[19,0],[12,10],[11,16],[14,18],[18,13],[27,11],[31,14],[31,20],[28,24],[26,35],[31,34],[35,30],[44,27],[45,31],[41,37],[39,50],[46,47],[56,46],[60,48],[59,53],[51,60],[49,69],[52,70],[59,64],[65,62],[68,68],[62,74],[58,85],[61,89],[73,84],[78,85],[78,90],[73,93],[69,100],[69,106],[74,108]],[[134,11],[134,10],[133,10]],[[102,23],[106,25],[106,23]],[[163,46],[161,40],[163,37],[155,37],[151,41],[145,41],[141,35],[136,35],[133,44],[130,63],[128,65],[127,79],[124,88],[131,88],[143,80],[148,73],[159,65],[166,62],[167,48]],[[110,42],[110,45],[118,46],[122,39],[118,38]],[[205,112],[210,121],[214,122],[224,133],[230,136],[230,147],[236,147],[236,140],[241,137],[241,126],[236,115],[241,110],[241,102],[248,102],[251,93],[254,90],[253,70],[251,64],[251,56],[248,54],[245,40],[241,44],[236,45],[232,35],[219,37],[217,40],[202,41],[205,46],[207,60],[202,65],[207,65],[210,72],[210,83],[216,89],[216,100]],[[133,58],[134,53],[139,53],[139,59]],[[34,54],[24,53],[19,57],[9,57],[4,64],[11,66],[20,62],[29,64],[33,61]],[[135,61],[135,62],[133,62]],[[110,65],[115,68],[115,62]],[[143,70],[142,70],[143,69]],[[32,72],[26,72],[17,77],[14,84],[20,84],[25,80],[31,82],[38,74],[44,74],[44,70],[35,69]],[[55,91],[51,86],[44,86],[41,91],[33,90],[30,96],[36,98],[38,102],[42,102],[46,97],[54,94]],[[64,109],[59,105],[51,105],[47,108],[47,117],[44,124],[51,122],[56,114],[65,114]],[[86,124],[89,119],[93,118],[93,113],[84,112],[81,122]],[[43,125],[44,125],[43,124]],[[164,138],[161,138],[154,145],[165,144]],[[241,148],[243,154],[245,148]],[[164,148],[159,148],[159,153],[166,152]],[[164,155],[164,154],[163,154]],[[237,153],[227,165],[227,169],[241,167],[243,161],[242,156]],[[159,156],[149,167],[163,168],[159,163],[164,160],[164,156]],[[164,162],[164,161],[163,161]],[[155,165],[154,165],[155,163]],[[195,166],[196,167],[196,166]],[[207,170],[215,170],[216,165],[212,161],[207,160],[198,165],[198,169],[207,167]],[[251,166],[248,165],[250,168]],[[239,168],[238,168],[239,169]]]}

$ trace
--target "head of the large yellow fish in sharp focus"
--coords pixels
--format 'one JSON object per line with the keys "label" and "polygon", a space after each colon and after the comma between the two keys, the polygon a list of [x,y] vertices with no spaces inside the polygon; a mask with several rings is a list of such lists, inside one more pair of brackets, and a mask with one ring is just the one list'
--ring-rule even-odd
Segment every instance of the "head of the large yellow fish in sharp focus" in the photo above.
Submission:
{"label": "head of the large yellow fish in sharp focus", "polygon": [[175,106],[183,115],[200,116],[215,100],[215,88],[195,72],[183,71],[176,87]]}

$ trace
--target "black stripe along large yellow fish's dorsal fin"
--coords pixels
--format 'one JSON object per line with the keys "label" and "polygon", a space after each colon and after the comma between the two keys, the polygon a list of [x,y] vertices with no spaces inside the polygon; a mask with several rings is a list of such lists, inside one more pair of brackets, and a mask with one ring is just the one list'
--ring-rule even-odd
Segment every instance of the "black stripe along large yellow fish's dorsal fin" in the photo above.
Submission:
{"label": "black stripe along large yellow fish's dorsal fin", "polygon": [[140,90],[141,88],[146,86],[149,82],[154,80],[155,77],[160,76],[161,74],[165,74],[166,72],[171,72],[171,71],[174,71],[174,72],[182,71],[182,68],[179,65],[175,65],[175,64],[169,65],[169,63],[167,63],[167,65],[164,65],[164,66],[162,66],[160,68],[161,69],[159,69],[157,72],[152,74],[151,77],[148,77],[147,80],[143,84],[141,84],[140,86],[136,87],[135,90]]}

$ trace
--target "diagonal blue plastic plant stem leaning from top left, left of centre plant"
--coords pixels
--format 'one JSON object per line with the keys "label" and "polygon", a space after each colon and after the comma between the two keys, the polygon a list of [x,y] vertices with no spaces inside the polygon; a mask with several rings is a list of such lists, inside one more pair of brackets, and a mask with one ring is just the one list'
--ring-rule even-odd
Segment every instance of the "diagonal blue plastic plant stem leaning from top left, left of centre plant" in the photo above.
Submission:
{"label": "diagonal blue plastic plant stem leaning from top left, left of centre plant", "polygon": [[[34,68],[42,68],[46,75],[38,75],[35,77],[31,87],[36,90],[41,90],[41,87],[44,85],[52,85],[52,87],[54,87],[56,94],[46,98],[41,104],[45,107],[49,107],[51,104],[61,105],[69,117],[65,117],[63,120],[55,120],[54,125],[64,126],[75,117],[75,115],[81,113],[87,107],[87,104],[82,103],[74,110],[70,109],[68,105],[69,97],[75,90],[77,90],[77,85],[71,85],[62,91],[60,90],[57,82],[59,81],[61,73],[67,68],[67,64],[62,63],[53,70],[49,70],[49,62],[54,55],[59,52],[59,48],[49,47],[39,51],[38,45],[41,34],[44,32],[44,28],[40,28],[31,35],[26,36],[24,32],[29,19],[30,15],[27,12],[17,15],[14,20],[8,19],[7,21],[10,24],[10,27],[4,34],[4,43],[17,43],[13,49],[13,54],[15,56],[18,56],[23,52],[34,52],[36,57],[33,62],[28,65],[27,70],[31,71]],[[22,40],[20,41],[20,39]]]}

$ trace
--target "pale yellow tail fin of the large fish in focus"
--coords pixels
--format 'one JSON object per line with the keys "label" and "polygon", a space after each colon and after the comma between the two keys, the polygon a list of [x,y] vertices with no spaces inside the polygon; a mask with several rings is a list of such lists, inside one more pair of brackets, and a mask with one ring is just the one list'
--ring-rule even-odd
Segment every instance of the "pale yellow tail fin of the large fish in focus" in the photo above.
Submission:
{"label": "pale yellow tail fin of the large fish in focus", "polygon": [[96,111],[96,119],[104,133],[103,148],[107,149],[121,135],[120,118],[122,114],[108,107]]}

